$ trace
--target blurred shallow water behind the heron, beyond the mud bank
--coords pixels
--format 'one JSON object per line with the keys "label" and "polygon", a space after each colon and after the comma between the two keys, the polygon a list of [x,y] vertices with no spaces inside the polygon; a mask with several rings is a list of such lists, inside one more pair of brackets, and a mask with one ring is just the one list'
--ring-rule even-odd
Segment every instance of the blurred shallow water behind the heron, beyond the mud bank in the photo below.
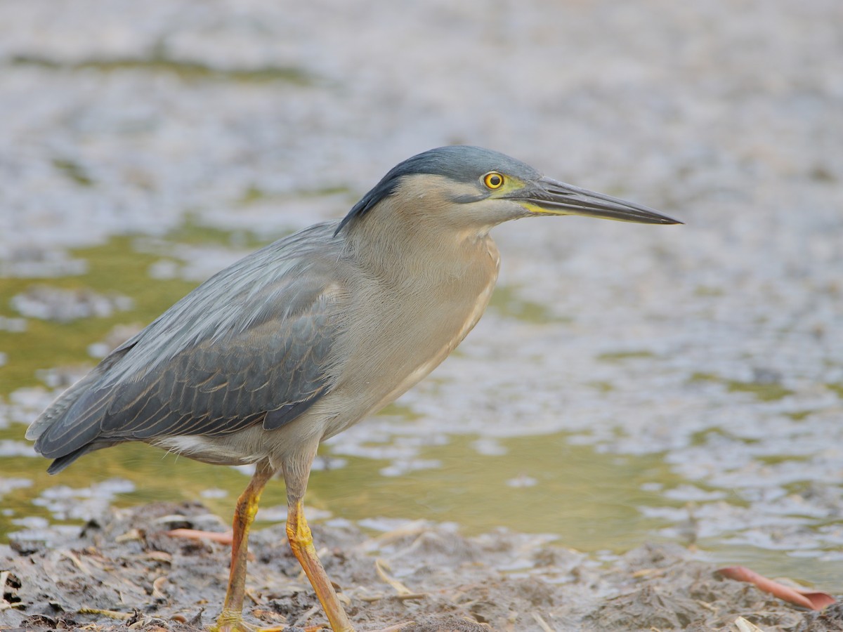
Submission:
{"label": "blurred shallow water behind the heron, beyond the mud bank", "polygon": [[216,270],[467,143],[686,225],[498,228],[486,316],[323,447],[312,515],[605,560],[667,540],[843,592],[840,24],[838,0],[0,3],[0,537],[154,500],[228,522],[238,469],[126,445],[48,477],[25,428]]}

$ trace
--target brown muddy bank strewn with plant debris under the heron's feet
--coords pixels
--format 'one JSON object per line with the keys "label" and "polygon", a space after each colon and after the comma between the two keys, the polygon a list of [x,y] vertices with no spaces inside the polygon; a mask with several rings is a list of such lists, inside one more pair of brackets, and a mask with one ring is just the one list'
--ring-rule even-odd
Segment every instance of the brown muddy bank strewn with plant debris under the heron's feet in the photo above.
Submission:
{"label": "brown muddy bank strewn with plant debris under the heron's feet", "polygon": [[[198,503],[158,503],[112,510],[49,545],[13,538],[0,549],[0,628],[202,629],[223,601],[228,547],[164,533],[180,527],[225,528]],[[314,525],[314,538],[360,630],[734,630],[738,617],[764,630],[843,629],[843,608],[793,608],[675,546],[605,566],[546,538],[464,538],[447,524],[373,536],[335,521]],[[247,621],[325,623],[282,525],[255,531],[251,552]]]}

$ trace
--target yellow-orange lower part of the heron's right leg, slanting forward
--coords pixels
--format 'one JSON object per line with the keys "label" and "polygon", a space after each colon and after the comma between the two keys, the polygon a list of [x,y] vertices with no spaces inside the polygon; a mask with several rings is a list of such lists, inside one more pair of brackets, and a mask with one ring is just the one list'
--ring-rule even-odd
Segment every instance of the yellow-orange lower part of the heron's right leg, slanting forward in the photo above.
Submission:
{"label": "yellow-orange lower part of the heron's right leg, slanting forward", "polygon": [[336,597],[334,586],[316,556],[314,538],[307,520],[304,519],[302,499],[293,496],[288,496],[287,500],[287,539],[290,540],[290,547],[298,563],[302,565],[311,586],[314,587],[316,597],[319,597],[319,603],[328,616],[330,629],[334,632],[354,632],[352,622],[348,620],[346,611],[342,609],[342,604]]}

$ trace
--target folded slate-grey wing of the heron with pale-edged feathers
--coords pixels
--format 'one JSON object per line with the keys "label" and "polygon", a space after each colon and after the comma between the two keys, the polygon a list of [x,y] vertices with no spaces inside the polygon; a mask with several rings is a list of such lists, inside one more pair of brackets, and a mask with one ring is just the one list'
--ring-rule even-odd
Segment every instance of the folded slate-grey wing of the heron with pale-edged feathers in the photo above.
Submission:
{"label": "folded slate-grey wing of the heron with pale-edged feathers", "polygon": [[346,301],[331,228],[213,276],[57,399],[29,433],[51,471],[124,441],[271,430],[329,392]]}

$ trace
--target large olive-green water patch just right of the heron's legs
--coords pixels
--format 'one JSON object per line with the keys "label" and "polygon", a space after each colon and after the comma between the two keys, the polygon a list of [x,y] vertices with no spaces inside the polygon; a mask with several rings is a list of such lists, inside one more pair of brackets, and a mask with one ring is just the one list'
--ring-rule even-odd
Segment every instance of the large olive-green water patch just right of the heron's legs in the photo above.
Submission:
{"label": "large olive-green water patch just right of the heron's legs", "polygon": [[426,448],[418,458],[440,467],[395,477],[379,474],[384,461],[348,458],[345,469],[311,475],[310,502],[351,519],[454,521],[464,533],[499,527],[556,533],[566,546],[586,551],[652,541],[666,523],[643,516],[640,507],[683,504],[648,490],[653,481],[662,488],[681,482],[658,454],[598,453],[559,433],[501,439],[507,453],[487,456],[470,446],[475,438]]}

